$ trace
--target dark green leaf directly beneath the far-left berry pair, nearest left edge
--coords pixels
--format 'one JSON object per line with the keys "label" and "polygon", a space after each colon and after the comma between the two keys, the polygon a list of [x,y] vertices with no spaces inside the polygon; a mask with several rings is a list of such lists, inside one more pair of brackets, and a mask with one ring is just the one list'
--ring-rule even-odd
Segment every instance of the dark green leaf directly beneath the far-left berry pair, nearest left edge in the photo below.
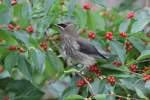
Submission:
{"label": "dark green leaf directly beneath the far-left berry pair, nearest left edge", "polygon": [[4,61],[5,68],[11,70],[18,62],[18,52],[10,52]]}

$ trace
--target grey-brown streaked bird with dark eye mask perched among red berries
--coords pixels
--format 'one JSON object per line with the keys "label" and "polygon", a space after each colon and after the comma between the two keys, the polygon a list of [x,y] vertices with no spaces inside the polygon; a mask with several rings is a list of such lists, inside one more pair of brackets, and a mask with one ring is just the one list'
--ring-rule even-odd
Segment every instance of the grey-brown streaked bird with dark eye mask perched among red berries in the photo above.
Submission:
{"label": "grey-brown streaked bird with dark eye mask perched among red berries", "polygon": [[98,47],[88,39],[80,37],[72,22],[55,24],[60,31],[62,50],[64,55],[74,62],[82,64],[85,68],[96,64],[97,59],[108,60],[111,54],[99,50]]}

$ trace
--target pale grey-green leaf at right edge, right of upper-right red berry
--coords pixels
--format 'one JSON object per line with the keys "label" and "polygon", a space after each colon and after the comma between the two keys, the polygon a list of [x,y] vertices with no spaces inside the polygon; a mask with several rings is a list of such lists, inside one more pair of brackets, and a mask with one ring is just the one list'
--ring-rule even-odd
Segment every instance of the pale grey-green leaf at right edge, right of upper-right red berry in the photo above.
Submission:
{"label": "pale grey-green leaf at right edge, right of upper-right red berry", "polygon": [[134,22],[131,28],[131,33],[142,31],[149,22],[150,19],[142,19]]}

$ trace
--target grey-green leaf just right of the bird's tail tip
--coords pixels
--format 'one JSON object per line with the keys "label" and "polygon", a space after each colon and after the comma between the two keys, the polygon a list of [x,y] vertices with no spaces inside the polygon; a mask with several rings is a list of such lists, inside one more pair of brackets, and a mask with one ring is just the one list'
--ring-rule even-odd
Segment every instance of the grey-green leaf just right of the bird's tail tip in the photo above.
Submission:
{"label": "grey-green leaf just right of the bird's tail tip", "polygon": [[124,64],[125,57],[126,57],[125,56],[126,55],[125,47],[117,41],[111,41],[110,46],[112,48],[112,52],[116,53],[118,55],[120,61]]}

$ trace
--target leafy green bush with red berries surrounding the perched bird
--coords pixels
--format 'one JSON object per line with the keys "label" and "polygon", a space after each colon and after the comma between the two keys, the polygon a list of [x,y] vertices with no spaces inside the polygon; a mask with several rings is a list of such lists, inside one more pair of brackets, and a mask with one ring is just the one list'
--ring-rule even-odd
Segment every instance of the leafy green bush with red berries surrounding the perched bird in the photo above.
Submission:
{"label": "leafy green bush with red berries surrounding the perched bird", "polygon": [[[109,10],[103,0],[0,0],[0,99],[149,100],[150,8],[129,2]],[[67,21],[117,57],[84,74],[69,66],[55,27]]]}

